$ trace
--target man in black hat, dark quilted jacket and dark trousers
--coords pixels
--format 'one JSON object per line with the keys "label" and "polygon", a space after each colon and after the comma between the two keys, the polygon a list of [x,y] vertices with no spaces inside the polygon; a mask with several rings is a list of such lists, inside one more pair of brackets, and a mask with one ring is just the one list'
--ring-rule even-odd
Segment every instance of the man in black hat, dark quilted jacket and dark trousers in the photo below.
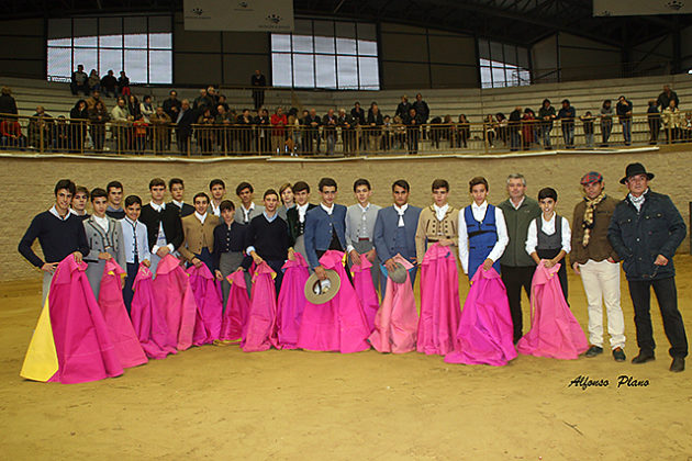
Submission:
{"label": "man in black hat, dark quilted jacket and dark trousers", "polygon": [[654,288],[663,317],[663,329],[671,345],[669,353],[673,360],[670,371],[682,371],[688,355],[688,338],[678,310],[672,259],[685,236],[687,226],[670,198],[649,189],[651,179],[654,173],[647,172],[644,165],[627,166],[620,182],[627,185],[629,193],[615,206],[607,237],[623,260],[635,310],[639,355],[632,362],[645,363],[655,359],[656,342],[649,313],[650,290]]}

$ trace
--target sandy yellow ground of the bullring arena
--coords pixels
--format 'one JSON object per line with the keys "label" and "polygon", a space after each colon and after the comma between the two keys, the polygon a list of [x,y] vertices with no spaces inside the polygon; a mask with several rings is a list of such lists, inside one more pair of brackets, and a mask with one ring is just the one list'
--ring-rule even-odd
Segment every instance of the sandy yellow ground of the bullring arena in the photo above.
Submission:
{"label": "sandy yellow ground of the bullring arena", "polygon": [[[690,335],[692,257],[676,261]],[[570,274],[569,283],[585,327],[581,282]],[[629,363],[637,348],[624,282],[624,363],[610,353],[521,356],[492,368],[420,353],[205,346],[78,385],[19,376],[38,291],[32,283],[2,288],[0,459],[692,460],[692,362],[683,373],[668,371],[655,304],[658,358]],[[569,386],[580,375],[610,385]],[[618,387],[620,375],[648,386]]]}

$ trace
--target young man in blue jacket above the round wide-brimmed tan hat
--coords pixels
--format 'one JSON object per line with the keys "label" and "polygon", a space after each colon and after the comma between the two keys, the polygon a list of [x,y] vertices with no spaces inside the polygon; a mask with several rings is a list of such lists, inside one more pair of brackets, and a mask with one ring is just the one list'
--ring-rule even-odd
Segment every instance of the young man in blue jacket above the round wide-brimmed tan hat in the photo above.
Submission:
{"label": "young man in blue jacket above the round wide-brimmed tan hat", "polygon": [[334,203],[336,181],[332,178],[320,180],[322,202],[305,213],[305,254],[310,267],[320,280],[326,279],[326,272],[320,265],[320,258],[328,249],[346,249],[346,206]]}

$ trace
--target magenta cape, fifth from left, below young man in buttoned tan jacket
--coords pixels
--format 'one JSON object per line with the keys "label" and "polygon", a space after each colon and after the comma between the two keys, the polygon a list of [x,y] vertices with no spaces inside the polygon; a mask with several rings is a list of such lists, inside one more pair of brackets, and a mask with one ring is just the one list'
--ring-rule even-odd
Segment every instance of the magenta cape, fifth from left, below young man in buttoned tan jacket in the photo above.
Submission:
{"label": "magenta cape, fifth from left, below young man in buttoned tan jacket", "polygon": [[216,281],[204,263],[199,268],[190,266],[187,272],[190,276],[190,288],[192,288],[197,304],[197,322],[192,344],[194,346],[211,344],[221,335],[223,315],[223,303],[219,296]]}

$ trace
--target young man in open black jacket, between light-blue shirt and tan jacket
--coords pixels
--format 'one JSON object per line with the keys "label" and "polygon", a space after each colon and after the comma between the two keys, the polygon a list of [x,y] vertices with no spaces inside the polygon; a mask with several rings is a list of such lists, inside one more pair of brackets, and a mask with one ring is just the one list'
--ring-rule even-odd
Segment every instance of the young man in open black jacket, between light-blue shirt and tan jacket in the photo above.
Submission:
{"label": "young man in open black jacket, between light-blue shirt and tan jacket", "polygon": [[152,272],[156,277],[158,261],[176,251],[183,240],[180,215],[174,206],[166,206],[166,182],[160,178],[149,181],[152,201],[142,207],[139,221],[146,226],[152,249]]}

